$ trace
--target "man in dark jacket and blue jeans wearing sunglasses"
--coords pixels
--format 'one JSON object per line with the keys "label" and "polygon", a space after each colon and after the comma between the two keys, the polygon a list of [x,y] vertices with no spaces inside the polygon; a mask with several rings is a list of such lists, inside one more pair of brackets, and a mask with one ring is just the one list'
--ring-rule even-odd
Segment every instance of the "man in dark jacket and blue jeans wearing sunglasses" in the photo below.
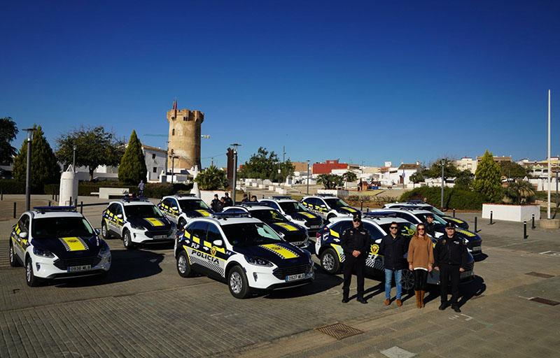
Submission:
{"label": "man in dark jacket and blue jeans wearing sunglasses", "polygon": [[408,252],[408,240],[400,234],[398,224],[391,222],[389,234],[381,239],[379,255],[383,255],[385,266],[385,306],[391,304],[391,285],[393,276],[397,287],[397,306],[402,306],[402,270],[407,267],[405,253]]}

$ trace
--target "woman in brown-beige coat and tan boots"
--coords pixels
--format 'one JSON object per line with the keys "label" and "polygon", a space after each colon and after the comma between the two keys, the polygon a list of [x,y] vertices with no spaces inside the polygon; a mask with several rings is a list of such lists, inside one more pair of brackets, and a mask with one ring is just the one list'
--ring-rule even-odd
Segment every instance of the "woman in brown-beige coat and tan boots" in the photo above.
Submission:
{"label": "woman in brown-beige coat and tan boots", "polygon": [[430,236],[426,234],[424,224],[416,226],[416,233],[408,245],[408,268],[414,273],[414,292],[416,293],[416,307],[424,306],[426,281],[428,273],[432,271],[433,245]]}

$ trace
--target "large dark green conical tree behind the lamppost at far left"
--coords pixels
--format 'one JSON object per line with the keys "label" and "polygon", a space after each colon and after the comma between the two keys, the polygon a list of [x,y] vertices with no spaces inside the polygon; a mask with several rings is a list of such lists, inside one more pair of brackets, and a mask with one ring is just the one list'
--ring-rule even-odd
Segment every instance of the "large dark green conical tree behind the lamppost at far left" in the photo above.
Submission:
{"label": "large dark green conical tree behind the lamppost at far left", "polygon": [[[35,132],[31,141],[31,187],[42,189],[45,184],[58,182],[60,179],[60,166],[55,153],[45,138],[41,126],[33,126]],[[13,163],[13,177],[15,180],[25,182],[27,170],[27,139],[23,141],[22,148]]]}

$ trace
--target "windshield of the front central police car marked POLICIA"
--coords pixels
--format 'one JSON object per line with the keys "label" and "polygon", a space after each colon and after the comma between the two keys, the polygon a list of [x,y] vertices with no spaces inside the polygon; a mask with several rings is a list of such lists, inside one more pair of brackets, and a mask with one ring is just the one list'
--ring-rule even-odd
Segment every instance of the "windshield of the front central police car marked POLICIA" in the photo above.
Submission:
{"label": "windshield of the front central police car marked POLICIA", "polygon": [[282,239],[264,223],[243,223],[223,225],[225,237],[234,246],[255,246],[278,243]]}

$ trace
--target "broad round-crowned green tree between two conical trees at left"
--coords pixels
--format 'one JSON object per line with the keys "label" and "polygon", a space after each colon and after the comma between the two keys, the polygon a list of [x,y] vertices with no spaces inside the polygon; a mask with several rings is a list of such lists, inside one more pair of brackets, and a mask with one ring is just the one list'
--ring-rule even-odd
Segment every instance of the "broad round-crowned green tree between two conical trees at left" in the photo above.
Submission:
{"label": "broad round-crowned green tree between two conical trees at left", "polygon": [[72,163],[73,146],[76,145],[76,166],[87,166],[90,180],[100,165],[116,166],[123,157],[124,143],[104,127],[80,127],[57,138],[57,158],[66,165]]}

